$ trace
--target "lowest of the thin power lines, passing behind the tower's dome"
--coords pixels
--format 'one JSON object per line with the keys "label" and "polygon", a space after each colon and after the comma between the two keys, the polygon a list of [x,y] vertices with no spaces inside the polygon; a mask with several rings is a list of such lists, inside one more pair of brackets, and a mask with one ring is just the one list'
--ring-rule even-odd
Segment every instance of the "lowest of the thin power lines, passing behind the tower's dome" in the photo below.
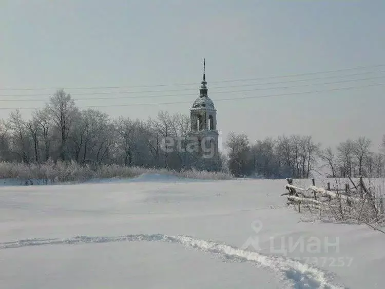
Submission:
{"label": "lowest of the thin power lines, passing behind the tower's dome", "polygon": [[[320,93],[327,91],[338,91],[345,89],[355,89],[355,88],[363,88],[363,87],[371,87],[371,86],[383,86],[385,83],[375,83],[368,85],[360,85],[360,86],[351,86],[351,87],[341,87],[341,88],[332,88],[332,89],[322,89],[322,90],[313,90],[313,91],[302,91],[302,92],[292,92],[292,93],[280,93],[280,94],[267,94],[267,95],[254,95],[251,97],[241,97],[241,98],[229,98],[229,99],[217,99],[218,101],[239,101],[245,99],[259,99],[259,98],[271,98],[271,97],[286,97],[290,95],[300,95],[300,94],[311,94],[311,93]],[[78,106],[79,108],[98,108],[98,107],[122,107],[122,106],[148,106],[148,105],[169,105],[169,104],[184,104],[191,103],[190,101],[183,102],[164,102],[164,103],[136,103],[136,104],[119,104],[119,105],[92,105],[92,106]],[[0,107],[0,109],[41,109],[44,107]]]}

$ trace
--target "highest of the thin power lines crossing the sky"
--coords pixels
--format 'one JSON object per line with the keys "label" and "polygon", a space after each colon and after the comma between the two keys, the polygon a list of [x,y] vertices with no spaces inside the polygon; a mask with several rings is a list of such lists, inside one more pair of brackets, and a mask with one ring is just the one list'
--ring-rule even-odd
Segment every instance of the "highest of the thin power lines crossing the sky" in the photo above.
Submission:
{"label": "highest of the thin power lines crossing the sky", "polygon": [[[249,79],[237,79],[237,80],[222,80],[222,81],[210,81],[210,83],[227,83],[227,82],[239,82],[239,81],[254,81],[254,80],[266,80],[266,79],[279,79],[279,78],[290,78],[295,76],[305,76],[305,75],[315,75],[315,74],[323,74],[323,73],[333,73],[333,72],[341,72],[341,71],[350,71],[350,70],[359,70],[359,69],[367,69],[367,68],[378,68],[384,67],[385,64],[373,65],[373,66],[361,66],[361,67],[352,67],[352,68],[343,68],[337,70],[325,70],[318,72],[307,72],[307,73],[296,73],[296,74],[286,74],[286,75],[276,75],[276,76],[267,76],[263,78],[249,78]],[[196,85],[196,82],[190,83],[174,83],[174,84],[152,84],[152,85],[132,85],[132,86],[96,86],[96,87],[62,87],[63,89],[112,89],[112,88],[134,88],[134,87],[157,87],[157,86],[179,86],[179,85]],[[0,90],[57,90],[60,89],[58,87],[51,88],[0,88]]]}

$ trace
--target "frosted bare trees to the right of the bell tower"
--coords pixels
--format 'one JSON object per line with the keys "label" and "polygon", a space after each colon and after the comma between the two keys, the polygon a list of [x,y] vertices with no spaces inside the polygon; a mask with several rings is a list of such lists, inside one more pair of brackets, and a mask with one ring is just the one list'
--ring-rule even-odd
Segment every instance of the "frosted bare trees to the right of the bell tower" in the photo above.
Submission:
{"label": "frosted bare trees to the right of the bell tower", "polygon": [[322,148],[311,136],[280,136],[252,144],[246,134],[229,133],[228,168],[235,176],[309,178],[322,170],[331,178],[383,177],[385,136],[379,152],[372,141],[348,139]]}

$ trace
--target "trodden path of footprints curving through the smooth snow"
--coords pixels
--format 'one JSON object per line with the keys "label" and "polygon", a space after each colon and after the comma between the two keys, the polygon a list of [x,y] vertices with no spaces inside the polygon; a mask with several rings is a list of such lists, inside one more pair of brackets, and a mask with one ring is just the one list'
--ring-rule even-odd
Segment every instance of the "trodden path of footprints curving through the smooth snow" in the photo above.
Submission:
{"label": "trodden path of footprints curving through the smooth snow", "polygon": [[195,239],[188,236],[167,236],[163,234],[140,234],[125,235],[119,237],[87,237],[79,236],[70,239],[27,239],[14,242],[0,243],[0,249],[20,248],[40,245],[79,244],[79,243],[108,243],[122,241],[162,241],[168,243],[182,244],[186,247],[193,247],[205,252],[218,254],[226,260],[248,261],[256,265],[263,265],[282,273],[285,278],[294,283],[294,288],[344,288],[328,281],[328,273],[324,270],[299,261],[262,255],[254,251],[229,246],[222,243]]}

